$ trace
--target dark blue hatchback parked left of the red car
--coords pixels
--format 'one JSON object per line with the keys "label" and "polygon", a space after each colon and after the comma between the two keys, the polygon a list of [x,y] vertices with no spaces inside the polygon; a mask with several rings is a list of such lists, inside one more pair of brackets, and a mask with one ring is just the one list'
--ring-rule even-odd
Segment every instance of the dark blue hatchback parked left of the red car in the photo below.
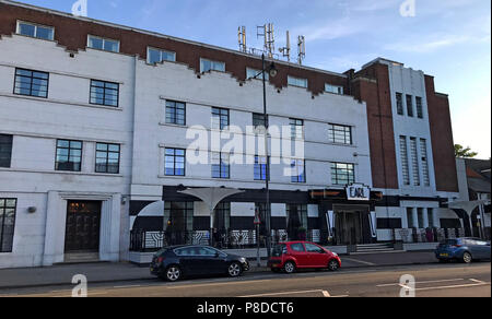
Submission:
{"label": "dark blue hatchback parked left of the red car", "polygon": [[249,270],[246,258],[208,246],[175,246],[154,255],[150,271],[163,280],[178,281],[191,275],[239,276]]}

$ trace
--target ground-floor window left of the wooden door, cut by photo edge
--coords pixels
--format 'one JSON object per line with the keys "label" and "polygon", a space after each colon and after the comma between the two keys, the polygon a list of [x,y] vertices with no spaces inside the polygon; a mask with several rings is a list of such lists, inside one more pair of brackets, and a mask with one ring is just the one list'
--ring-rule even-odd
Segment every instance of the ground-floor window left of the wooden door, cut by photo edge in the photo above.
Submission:
{"label": "ground-floor window left of the wooden door, cut by photo edge", "polygon": [[0,252],[12,252],[16,199],[0,199]]}

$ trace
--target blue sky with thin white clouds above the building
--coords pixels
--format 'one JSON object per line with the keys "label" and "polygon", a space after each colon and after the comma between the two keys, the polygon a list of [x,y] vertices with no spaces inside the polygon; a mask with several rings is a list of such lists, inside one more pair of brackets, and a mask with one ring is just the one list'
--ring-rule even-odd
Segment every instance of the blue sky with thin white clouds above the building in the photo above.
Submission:
{"label": "blue sky with thin white clouds above the building", "polygon": [[[261,47],[256,26],[276,26],[277,47],[305,35],[306,66],[336,72],[360,69],[376,57],[435,76],[449,94],[455,142],[491,156],[491,1],[414,0],[87,0],[89,17],[226,48],[237,48],[245,25],[248,46]],[[75,0],[23,2],[70,12]],[[296,49],[294,48],[294,54]]]}

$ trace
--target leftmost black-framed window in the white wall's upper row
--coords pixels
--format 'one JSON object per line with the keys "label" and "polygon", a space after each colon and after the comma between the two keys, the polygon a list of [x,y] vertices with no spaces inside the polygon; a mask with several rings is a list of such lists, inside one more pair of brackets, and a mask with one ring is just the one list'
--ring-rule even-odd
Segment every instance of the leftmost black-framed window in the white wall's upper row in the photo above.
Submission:
{"label": "leftmost black-framed window in the white wall's upper row", "polygon": [[49,73],[15,69],[14,94],[48,97]]}

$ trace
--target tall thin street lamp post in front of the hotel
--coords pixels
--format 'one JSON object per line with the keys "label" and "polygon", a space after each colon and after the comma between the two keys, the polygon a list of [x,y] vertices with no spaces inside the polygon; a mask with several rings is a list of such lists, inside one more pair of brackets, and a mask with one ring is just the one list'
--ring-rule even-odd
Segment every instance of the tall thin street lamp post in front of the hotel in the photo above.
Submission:
{"label": "tall thin street lamp post in front of the hotel", "polygon": [[[270,209],[270,157],[268,156],[268,113],[267,113],[267,80],[265,73],[268,71],[271,78],[277,76],[277,68],[272,62],[267,68],[267,62],[265,60],[265,54],[261,55],[261,72],[258,73],[256,78],[260,74],[262,76],[263,82],[263,122],[265,122],[265,157],[266,157],[266,176],[265,176],[265,190],[266,190],[266,214],[265,214],[265,227],[267,229],[267,253],[270,258],[271,255],[271,209]],[[261,172],[261,163],[260,163],[260,172]],[[260,173],[261,174],[261,173]],[[259,237],[259,235],[258,235]]]}

